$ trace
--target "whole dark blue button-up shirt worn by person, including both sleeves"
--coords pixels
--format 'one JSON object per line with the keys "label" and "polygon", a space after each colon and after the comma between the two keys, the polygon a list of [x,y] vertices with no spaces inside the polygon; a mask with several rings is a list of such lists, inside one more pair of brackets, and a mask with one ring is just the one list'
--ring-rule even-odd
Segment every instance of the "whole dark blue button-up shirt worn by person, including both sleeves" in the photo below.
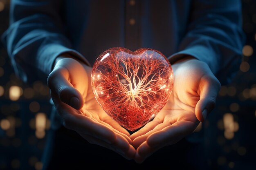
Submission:
{"label": "whole dark blue button-up shirt worn by person, including both sleeves", "polygon": [[2,40],[25,82],[46,80],[62,53],[92,65],[123,46],[156,49],[171,63],[191,55],[225,83],[241,61],[241,16],[239,0],[11,0]]}

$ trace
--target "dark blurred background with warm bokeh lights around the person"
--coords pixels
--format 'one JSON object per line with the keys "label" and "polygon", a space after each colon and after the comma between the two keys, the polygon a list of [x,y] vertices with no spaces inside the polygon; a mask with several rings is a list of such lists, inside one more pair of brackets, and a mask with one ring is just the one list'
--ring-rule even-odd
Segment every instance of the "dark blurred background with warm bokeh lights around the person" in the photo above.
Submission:
{"label": "dark blurred background with warm bokeh lights around the person", "polygon": [[[0,0],[0,35],[8,16],[9,0]],[[222,86],[215,110],[197,128],[204,130],[213,169],[256,169],[256,0],[243,0],[243,29],[240,71]],[[0,170],[41,169],[50,111],[46,84],[18,79],[0,44]]]}

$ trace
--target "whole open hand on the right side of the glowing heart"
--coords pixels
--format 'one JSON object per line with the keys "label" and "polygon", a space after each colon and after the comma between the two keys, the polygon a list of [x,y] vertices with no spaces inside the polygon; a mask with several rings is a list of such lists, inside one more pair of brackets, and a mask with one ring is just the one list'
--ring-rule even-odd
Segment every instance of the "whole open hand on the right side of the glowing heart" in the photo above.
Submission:
{"label": "whole open hand on the right side of the glowing heart", "polygon": [[174,86],[168,102],[152,121],[130,136],[138,163],[191,134],[215,106],[220,82],[206,63],[189,58],[172,68]]}

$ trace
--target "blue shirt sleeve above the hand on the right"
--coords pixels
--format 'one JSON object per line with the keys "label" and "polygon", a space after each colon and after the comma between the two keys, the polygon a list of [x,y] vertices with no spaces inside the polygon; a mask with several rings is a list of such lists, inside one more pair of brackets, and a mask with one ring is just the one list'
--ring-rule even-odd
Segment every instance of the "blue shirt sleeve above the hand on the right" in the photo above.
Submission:
{"label": "blue shirt sleeve above the hand on the right", "polygon": [[206,62],[222,84],[238,71],[244,43],[240,0],[194,0],[174,63],[185,55]]}

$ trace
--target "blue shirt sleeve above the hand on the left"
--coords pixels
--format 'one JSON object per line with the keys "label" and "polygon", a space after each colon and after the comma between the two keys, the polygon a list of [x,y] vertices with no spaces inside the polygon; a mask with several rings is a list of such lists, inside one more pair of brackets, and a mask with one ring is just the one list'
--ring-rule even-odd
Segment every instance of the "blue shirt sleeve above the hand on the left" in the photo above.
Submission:
{"label": "blue shirt sleeve above the hand on the left", "polygon": [[[70,53],[90,65],[63,33],[62,0],[11,0],[10,26],[2,35],[11,64],[24,82],[46,80],[56,57]],[[46,82],[46,81],[45,81]]]}

